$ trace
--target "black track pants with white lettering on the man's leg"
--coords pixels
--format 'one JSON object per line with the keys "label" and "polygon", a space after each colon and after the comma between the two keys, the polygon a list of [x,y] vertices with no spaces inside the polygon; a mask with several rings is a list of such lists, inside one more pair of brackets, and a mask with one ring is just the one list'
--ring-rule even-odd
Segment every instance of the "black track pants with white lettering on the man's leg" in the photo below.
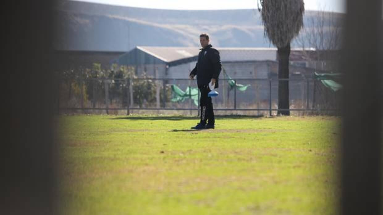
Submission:
{"label": "black track pants with white lettering on the man's leg", "polygon": [[201,105],[201,123],[206,124],[208,120],[208,124],[214,124],[214,111],[213,111],[213,103],[211,102],[211,97],[208,97],[208,93],[210,89],[208,86],[200,87],[200,105]]}

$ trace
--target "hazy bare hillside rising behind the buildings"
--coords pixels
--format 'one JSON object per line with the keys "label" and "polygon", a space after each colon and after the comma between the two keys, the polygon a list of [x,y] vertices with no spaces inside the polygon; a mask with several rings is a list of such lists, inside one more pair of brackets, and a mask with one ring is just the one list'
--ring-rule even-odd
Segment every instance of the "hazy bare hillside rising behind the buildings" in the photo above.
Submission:
{"label": "hazy bare hillside rising behind the buildings", "polygon": [[[315,16],[306,11],[304,20]],[[342,15],[339,14],[339,17]],[[128,51],[140,46],[273,47],[258,10],[158,10],[64,1],[56,6],[57,50]],[[310,27],[305,21],[305,27]],[[293,42],[292,46],[296,46]]]}

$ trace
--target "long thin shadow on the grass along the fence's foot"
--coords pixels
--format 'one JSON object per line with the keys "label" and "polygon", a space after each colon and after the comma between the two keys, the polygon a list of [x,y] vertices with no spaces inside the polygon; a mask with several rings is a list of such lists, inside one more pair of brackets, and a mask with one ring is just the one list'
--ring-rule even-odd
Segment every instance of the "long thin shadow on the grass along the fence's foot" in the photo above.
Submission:
{"label": "long thin shadow on the grass along the fence's foot", "polygon": [[[199,116],[118,116],[110,120],[199,120]],[[244,115],[221,115],[215,116],[216,119],[257,119],[264,116],[244,116]]]}

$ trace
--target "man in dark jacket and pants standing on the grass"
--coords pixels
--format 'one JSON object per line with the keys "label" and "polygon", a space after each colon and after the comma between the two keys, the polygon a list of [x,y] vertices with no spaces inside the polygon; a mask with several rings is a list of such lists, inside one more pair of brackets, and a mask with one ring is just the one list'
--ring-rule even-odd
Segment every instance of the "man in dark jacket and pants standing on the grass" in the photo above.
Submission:
{"label": "man in dark jacket and pants standing on the grass", "polygon": [[[200,35],[201,51],[198,53],[198,61],[195,68],[191,70],[189,77],[194,79],[197,76],[197,85],[200,89],[201,121],[192,129],[214,129],[214,112],[210,92],[210,81],[214,88],[218,88],[218,76],[221,73],[221,60],[219,52],[209,44],[209,35]],[[206,124],[207,123],[207,124]]]}

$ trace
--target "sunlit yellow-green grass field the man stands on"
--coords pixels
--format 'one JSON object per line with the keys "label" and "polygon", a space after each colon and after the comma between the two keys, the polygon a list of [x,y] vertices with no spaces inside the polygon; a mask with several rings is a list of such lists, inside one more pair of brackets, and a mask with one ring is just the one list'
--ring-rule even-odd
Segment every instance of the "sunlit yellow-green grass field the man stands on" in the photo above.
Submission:
{"label": "sunlit yellow-green grass field the man stands on", "polygon": [[63,214],[335,214],[339,118],[61,116]]}

